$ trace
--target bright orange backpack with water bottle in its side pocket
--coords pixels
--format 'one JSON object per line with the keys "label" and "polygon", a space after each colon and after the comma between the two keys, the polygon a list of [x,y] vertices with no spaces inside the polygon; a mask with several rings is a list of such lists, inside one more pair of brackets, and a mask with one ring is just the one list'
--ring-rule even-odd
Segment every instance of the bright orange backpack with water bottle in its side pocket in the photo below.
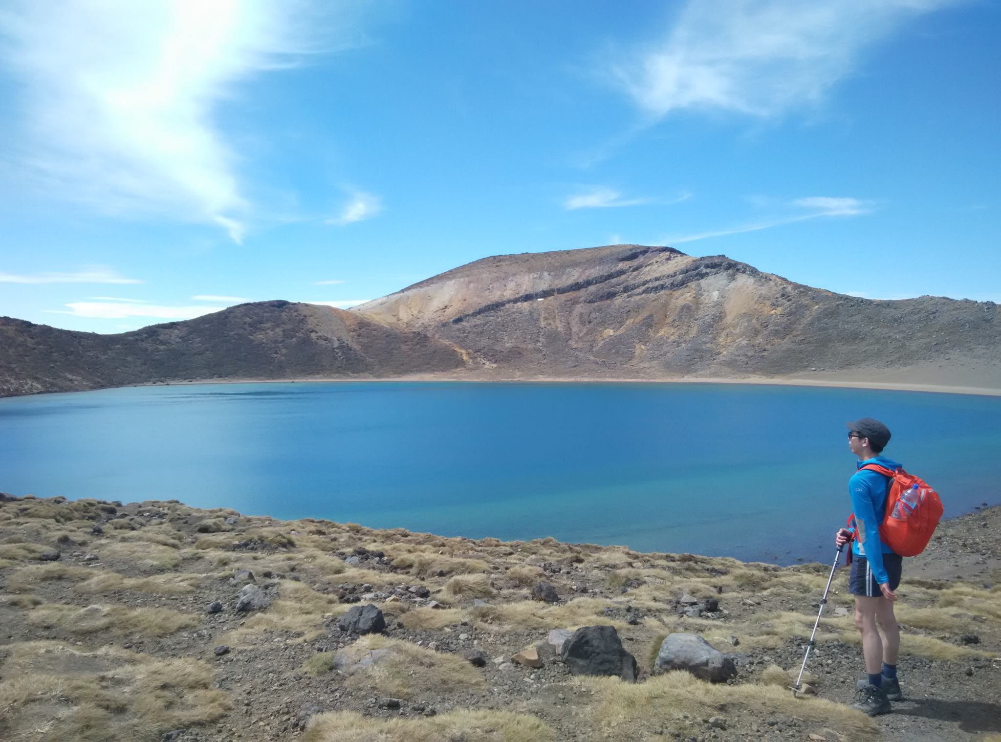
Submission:
{"label": "bright orange backpack with water bottle in its side pocket", "polygon": [[[878,464],[867,464],[862,469],[871,469],[890,478],[886,516],[879,527],[880,539],[901,557],[921,554],[942,518],[942,501],[938,493],[923,479],[903,469],[894,472]],[[854,518],[853,513],[849,521]]]}

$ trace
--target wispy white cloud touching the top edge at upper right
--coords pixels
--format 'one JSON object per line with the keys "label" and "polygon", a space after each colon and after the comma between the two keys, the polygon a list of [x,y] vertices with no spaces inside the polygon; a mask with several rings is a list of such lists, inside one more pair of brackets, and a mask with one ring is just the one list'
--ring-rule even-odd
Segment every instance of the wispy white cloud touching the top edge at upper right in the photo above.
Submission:
{"label": "wispy white cloud touching the top edge at upper right", "polygon": [[775,116],[822,100],[909,19],[960,1],[690,0],[611,76],[655,120],[683,109]]}

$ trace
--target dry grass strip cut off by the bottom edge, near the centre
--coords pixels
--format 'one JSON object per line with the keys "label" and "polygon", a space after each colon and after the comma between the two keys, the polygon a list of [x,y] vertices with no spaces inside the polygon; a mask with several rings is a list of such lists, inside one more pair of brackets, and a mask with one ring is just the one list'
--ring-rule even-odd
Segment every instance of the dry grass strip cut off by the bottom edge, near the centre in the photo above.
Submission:
{"label": "dry grass strip cut off by the bottom edge, near the centre", "polygon": [[370,719],[351,711],[314,716],[303,742],[547,742],[546,722],[511,711],[452,711],[429,719]]}

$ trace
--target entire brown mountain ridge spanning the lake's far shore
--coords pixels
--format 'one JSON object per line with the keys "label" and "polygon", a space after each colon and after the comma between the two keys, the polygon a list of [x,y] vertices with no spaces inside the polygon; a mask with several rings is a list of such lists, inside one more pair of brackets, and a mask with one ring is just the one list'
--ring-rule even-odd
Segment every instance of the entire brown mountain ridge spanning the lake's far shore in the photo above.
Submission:
{"label": "entire brown mountain ridge spanning the lake's far shore", "polygon": [[0,396],[407,375],[795,376],[1001,389],[997,309],[935,296],[857,298],[725,255],[611,245],[483,258],[350,311],[261,301],[111,335],[3,317]]}

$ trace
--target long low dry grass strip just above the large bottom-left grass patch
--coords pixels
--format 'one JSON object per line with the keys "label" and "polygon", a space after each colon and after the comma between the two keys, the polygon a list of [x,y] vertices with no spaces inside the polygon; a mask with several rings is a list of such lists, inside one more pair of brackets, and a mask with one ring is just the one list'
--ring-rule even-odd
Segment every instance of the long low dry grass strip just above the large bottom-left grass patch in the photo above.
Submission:
{"label": "long low dry grass strip just above the large bottom-left grass patch", "polygon": [[198,625],[195,616],[168,608],[125,608],[124,606],[67,606],[44,603],[25,616],[29,624],[73,634],[110,631],[122,636],[167,636]]}

